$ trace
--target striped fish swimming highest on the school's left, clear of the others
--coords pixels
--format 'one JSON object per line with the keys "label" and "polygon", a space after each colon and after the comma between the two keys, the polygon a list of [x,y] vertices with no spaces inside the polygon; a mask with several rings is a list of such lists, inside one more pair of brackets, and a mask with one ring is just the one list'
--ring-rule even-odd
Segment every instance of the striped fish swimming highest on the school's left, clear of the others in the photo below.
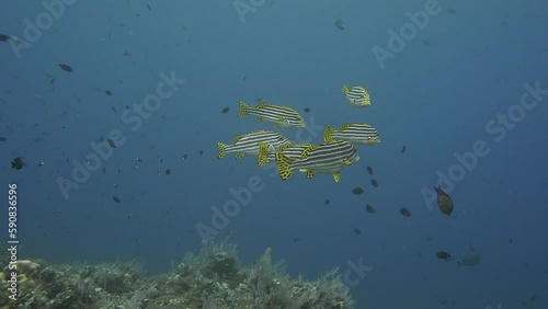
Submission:
{"label": "striped fish swimming highest on the school's left, clear of the others", "polygon": [[246,102],[240,101],[238,117],[246,115],[256,116],[258,122],[273,123],[276,128],[305,127],[305,119],[302,119],[299,113],[287,106],[259,103],[255,107],[250,107]]}

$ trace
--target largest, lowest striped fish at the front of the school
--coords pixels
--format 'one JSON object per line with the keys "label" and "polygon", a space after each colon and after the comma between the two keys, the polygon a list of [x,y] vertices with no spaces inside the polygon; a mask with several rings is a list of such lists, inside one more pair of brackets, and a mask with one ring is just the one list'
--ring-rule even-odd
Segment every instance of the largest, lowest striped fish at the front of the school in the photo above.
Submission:
{"label": "largest, lowest striped fish at the front of the school", "polygon": [[276,164],[283,180],[287,180],[295,170],[299,170],[307,173],[307,179],[313,178],[316,173],[328,173],[333,174],[335,182],[339,182],[340,172],[358,160],[356,148],[344,140],[312,145],[302,151],[301,158],[289,158],[276,152]]}

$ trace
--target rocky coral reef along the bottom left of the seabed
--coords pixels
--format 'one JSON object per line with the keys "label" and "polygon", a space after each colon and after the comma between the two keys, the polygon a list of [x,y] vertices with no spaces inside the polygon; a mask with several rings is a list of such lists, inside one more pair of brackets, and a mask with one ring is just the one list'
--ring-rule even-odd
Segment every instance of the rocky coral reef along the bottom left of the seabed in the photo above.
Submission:
{"label": "rocky coral reef along the bottom left of the seabed", "polygon": [[172,272],[151,277],[130,262],[48,265],[21,260],[15,301],[8,298],[11,271],[1,266],[0,308],[354,308],[336,270],[313,282],[290,278],[282,263],[272,263],[271,249],[242,266],[237,247],[228,242],[208,242]]}

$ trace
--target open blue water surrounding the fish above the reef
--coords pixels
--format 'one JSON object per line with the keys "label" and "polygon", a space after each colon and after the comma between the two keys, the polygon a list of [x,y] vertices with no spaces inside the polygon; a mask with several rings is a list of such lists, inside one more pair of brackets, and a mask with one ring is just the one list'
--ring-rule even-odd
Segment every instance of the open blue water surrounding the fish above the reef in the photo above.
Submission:
{"label": "open blue water surrounding the fish above the reef", "polygon": [[[212,207],[252,180],[260,190],[217,226],[244,264],[271,247],[293,276],[339,266],[356,279],[349,265],[361,260],[369,268],[351,288],[357,308],[548,308],[548,95],[520,105],[527,89],[548,89],[548,4],[506,2],[171,0],[148,10],[146,1],[67,0],[50,21],[38,1],[2,3],[0,33],[21,39],[0,42],[0,175],[5,192],[19,186],[20,256],[136,259],[149,274],[168,272],[199,250],[196,227],[212,226]],[[425,5],[419,28],[406,13]],[[402,27],[415,32],[390,49],[389,30]],[[374,48],[391,57],[378,61]],[[162,88],[171,92],[147,118],[132,112],[162,75],[179,82]],[[349,105],[344,83],[366,87],[372,106]],[[292,140],[321,142],[326,124],[367,122],[381,142],[358,147],[359,162],[339,183],[300,173],[282,181],[253,158],[217,159],[218,141],[273,129],[237,117],[240,100],[258,98],[301,112],[310,130],[279,129]],[[509,112],[504,127],[496,115]],[[104,146],[115,130],[125,142],[64,194],[59,178],[75,181],[73,160],[99,158],[90,144],[103,137]],[[481,157],[471,164],[466,154],[466,169],[455,153],[477,142]],[[11,168],[15,157],[23,169]],[[449,217],[421,193],[438,182],[455,202]],[[7,211],[0,217],[5,233]],[[471,248],[481,262],[459,267]],[[441,250],[452,261],[436,259]]]}

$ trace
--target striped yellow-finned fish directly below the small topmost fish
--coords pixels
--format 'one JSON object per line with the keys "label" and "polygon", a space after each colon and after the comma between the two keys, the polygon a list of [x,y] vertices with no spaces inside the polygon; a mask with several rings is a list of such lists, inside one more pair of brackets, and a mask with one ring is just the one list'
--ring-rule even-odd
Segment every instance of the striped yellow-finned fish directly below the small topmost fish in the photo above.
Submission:
{"label": "striped yellow-finned fish directly below the small topmost fish", "polygon": [[368,124],[344,124],[338,130],[330,125],[323,130],[323,141],[346,140],[354,145],[372,145],[380,142],[377,129]]}

